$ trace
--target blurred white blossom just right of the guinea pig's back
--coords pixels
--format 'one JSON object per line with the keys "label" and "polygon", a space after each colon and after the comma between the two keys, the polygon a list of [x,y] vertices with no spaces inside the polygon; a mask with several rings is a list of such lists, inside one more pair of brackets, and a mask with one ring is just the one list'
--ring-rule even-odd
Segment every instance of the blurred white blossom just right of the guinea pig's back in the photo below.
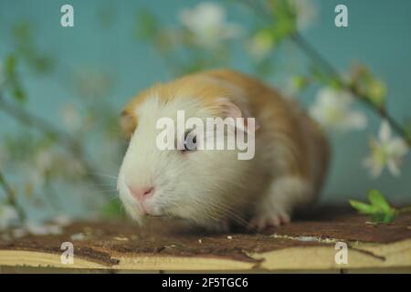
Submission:
{"label": "blurred white blossom just right of the guinea pig's back", "polygon": [[320,89],[310,108],[311,117],[331,130],[364,130],[367,120],[360,111],[352,109],[353,96],[342,90]]}

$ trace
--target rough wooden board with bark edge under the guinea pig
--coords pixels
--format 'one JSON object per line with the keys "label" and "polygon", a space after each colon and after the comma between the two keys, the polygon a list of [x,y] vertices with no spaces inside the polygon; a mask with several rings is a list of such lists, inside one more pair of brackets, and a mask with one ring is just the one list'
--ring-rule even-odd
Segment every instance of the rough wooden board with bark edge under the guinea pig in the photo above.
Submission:
{"label": "rough wooden board with bark edge under the guinea pig", "polygon": [[[206,235],[180,224],[153,220],[82,222],[62,235],[0,242],[0,266],[48,266],[116,270],[340,270],[409,268],[411,215],[393,224],[367,224],[366,217],[323,207],[265,234]],[[74,263],[63,264],[60,246],[74,245]],[[335,262],[337,242],[348,245],[348,264]]]}

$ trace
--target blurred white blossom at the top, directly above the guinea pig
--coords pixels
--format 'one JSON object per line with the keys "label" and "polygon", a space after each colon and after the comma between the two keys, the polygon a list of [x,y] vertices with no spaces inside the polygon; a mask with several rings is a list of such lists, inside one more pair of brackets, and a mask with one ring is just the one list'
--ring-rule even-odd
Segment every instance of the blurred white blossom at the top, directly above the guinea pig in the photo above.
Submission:
{"label": "blurred white blossom at the top, directly above the guinea pig", "polygon": [[195,43],[204,47],[216,47],[221,41],[240,35],[241,28],[226,22],[226,11],[221,5],[203,2],[194,8],[185,8],[180,21],[195,37]]}

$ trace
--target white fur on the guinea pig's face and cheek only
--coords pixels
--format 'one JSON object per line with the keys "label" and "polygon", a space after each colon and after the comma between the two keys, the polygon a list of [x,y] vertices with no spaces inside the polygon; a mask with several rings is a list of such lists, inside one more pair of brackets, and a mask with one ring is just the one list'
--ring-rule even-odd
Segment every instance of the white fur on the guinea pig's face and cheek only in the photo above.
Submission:
{"label": "white fur on the guinea pig's face and cheek only", "polygon": [[146,203],[154,215],[182,217],[205,226],[217,226],[228,218],[240,220],[237,206],[246,203],[242,198],[249,190],[249,163],[237,160],[237,151],[161,151],[156,147],[156,121],[169,117],[176,124],[177,110],[185,110],[186,117],[211,116],[200,99],[175,98],[164,103],[153,96],[138,109],[139,125],[118,178],[127,213],[142,222],[127,184],[153,185],[154,195]]}

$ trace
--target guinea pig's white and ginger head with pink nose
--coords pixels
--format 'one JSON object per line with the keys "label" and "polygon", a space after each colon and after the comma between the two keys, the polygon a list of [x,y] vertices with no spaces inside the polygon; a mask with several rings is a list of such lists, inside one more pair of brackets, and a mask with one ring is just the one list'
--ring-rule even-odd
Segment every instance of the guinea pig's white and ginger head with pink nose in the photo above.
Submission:
{"label": "guinea pig's white and ginger head with pink nose", "polygon": [[[208,131],[201,135],[183,125],[178,133],[178,112],[184,112],[184,120],[245,117],[246,109],[231,100],[233,94],[216,82],[183,79],[154,86],[126,107],[121,124],[130,142],[118,190],[133,219],[141,223],[144,215],[169,216],[204,224],[233,214],[241,203],[238,192],[247,180],[249,162],[238,159],[237,147],[205,149]],[[159,147],[166,140],[174,147]]]}

